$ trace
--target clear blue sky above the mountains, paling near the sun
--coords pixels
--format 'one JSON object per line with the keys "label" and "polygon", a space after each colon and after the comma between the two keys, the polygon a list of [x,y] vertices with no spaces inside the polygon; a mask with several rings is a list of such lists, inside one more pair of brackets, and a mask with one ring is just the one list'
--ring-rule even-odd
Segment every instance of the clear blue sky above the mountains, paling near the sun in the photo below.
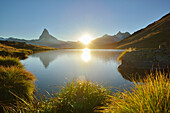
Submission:
{"label": "clear blue sky above the mountains, paling near the sun", "polygon": [[170,12],[170,0],[0,0],[0,37],[61,40],[133,33]]}

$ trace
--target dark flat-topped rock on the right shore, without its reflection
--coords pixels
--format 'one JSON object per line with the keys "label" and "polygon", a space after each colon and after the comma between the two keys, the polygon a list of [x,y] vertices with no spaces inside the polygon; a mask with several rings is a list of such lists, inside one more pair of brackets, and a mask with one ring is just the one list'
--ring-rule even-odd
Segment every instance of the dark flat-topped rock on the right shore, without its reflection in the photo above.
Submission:
{"label": "dark flat-topped rock on the right shore, without its reflection", "polygon": [[134,69],[166,69],[170,66],[170,49],[147,49],[126,53],[121,67]]}

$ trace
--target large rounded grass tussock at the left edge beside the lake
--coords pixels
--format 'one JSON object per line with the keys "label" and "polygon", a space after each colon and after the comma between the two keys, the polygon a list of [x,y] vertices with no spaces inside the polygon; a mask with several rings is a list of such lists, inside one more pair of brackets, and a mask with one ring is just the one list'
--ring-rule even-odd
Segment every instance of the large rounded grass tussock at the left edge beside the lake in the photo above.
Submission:
{"label": "large rounded grass tussock at the left edge beside the lake", "polygon": [[0,66],[0,103],[13,102],[16,97],[12,93],[31,100],[35,90],[34,81],[35,76],[23,68]]}

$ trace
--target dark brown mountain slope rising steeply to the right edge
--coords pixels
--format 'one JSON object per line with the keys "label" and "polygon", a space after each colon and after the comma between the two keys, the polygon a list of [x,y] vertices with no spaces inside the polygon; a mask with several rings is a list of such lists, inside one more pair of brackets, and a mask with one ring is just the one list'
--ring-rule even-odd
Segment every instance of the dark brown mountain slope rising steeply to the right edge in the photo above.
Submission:
{"label": "dark brown mountain slope rising steeply to the right edge", "polygon": [[158,48],[170,46],[170,13],[115,44],[117,48]]}

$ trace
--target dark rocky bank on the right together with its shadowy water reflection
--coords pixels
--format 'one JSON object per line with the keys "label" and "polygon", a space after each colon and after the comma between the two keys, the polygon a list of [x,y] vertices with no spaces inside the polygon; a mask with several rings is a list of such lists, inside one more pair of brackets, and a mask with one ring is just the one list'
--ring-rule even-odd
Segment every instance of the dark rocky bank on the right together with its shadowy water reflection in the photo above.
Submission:
{"label": "dark rocky bank on the right together with its shadowy water reflection", "polygon": [[121,58],[118,71],[127,80],[139,79],[149,73],[157,71],[169,72],[170,49],[145,49],[127,52]]}

